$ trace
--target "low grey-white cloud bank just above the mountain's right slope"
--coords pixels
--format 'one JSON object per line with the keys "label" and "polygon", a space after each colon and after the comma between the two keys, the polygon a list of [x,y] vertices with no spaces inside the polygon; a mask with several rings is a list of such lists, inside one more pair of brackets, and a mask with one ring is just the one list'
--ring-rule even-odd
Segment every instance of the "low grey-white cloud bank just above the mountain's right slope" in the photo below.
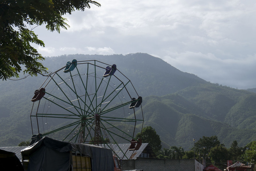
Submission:
{"label": "low grey-white cloud bank just above the mountain's right slope", "polygon": [[187,51],[170,52],[163,59],[181,71],[196,74],[206,81],[240,89],[256,87],[255,81],[250,80],[255,73],[255,54],[239,59],[222,59],[211,53]]}

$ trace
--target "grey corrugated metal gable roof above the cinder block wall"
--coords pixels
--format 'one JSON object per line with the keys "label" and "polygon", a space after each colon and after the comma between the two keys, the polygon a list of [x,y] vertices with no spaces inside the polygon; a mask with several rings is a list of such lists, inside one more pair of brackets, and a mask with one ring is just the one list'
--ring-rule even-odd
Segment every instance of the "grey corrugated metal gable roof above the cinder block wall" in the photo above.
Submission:
{"label": "grey corrugated metal gable roof above the cinder block wall", "polygon": [[[112,144],[116,155],[123,160],[137,159],[141,153],[147,153],[150,158],[156,158],[155,153],[152,151],[148,143],[142,143],[139,150],[128,150],[131,144]],[[109,148],[106,146],[106,148]]]}

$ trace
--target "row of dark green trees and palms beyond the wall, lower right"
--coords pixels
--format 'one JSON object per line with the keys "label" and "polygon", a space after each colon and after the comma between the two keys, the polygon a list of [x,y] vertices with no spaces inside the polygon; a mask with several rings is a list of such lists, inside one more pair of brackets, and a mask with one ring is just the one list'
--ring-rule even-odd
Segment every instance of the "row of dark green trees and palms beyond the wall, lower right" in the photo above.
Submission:
{"label": "row of dark green trees and palms beyond the wall, lower right", "polygon": [[205,163],[206,167],[214,165],[220,169],[226,169],[227,160],[232,163],[240,161],[244,164],[256,163],[256,141],[252,141],[244,147],[239,147],[237,141],[233,141],[230,148],[220,144],[217,136],[200,138],[191,150],[184,151],[182,147],[172,146],[158,151],[159,159],[196,159],[199,163]]}

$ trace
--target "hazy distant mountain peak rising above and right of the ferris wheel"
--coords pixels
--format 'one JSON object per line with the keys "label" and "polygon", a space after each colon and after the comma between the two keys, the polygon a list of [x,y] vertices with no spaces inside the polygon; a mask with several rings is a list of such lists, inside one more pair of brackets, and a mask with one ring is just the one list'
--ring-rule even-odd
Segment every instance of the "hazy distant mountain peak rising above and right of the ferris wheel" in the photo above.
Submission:
{"label": "hazy distant mountain peak rising above and right of the ferris wheel", "polygon": [[160,58],[145,53],[128,55],[67,55],[47,58],[44,65],[49,71],[56,71],[66,65],[66,62],[76,59],[99,60],[109,65],[116,64],[116,67],[125,76],[131,79],[136,90],[143,97],[174,93],[186,87],[207,83],[194,74],[181,72]]}

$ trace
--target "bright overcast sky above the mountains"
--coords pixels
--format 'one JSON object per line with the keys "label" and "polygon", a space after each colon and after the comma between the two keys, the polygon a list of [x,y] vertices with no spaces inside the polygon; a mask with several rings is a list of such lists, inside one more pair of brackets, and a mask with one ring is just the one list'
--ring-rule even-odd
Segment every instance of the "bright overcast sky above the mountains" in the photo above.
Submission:
{"label": "bright overcast sky above the mountains", "polygon": [[183,72],[238,89],[256,88],[255,0],[97,0],[66,15],[61,33],[36,27],[43,56],[144,52]]}

